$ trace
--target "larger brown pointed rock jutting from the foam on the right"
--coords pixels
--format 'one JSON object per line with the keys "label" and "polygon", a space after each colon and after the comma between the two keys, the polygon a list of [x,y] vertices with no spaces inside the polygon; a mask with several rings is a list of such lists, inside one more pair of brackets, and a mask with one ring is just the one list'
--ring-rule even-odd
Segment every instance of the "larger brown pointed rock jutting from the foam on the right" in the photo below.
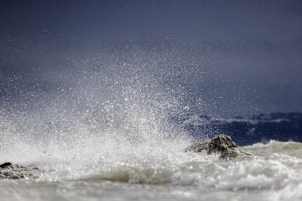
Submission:
{"label": "larger brown pointed rock jutting from the foam on the right", "polygon": [[184,149],[185,152],[202,152],[206,151],[207,154],[220,154],[220,158],[235,158],[239,155],[252,155],[241,148],[229,136],[217,135],[211,140],[192,144]]}

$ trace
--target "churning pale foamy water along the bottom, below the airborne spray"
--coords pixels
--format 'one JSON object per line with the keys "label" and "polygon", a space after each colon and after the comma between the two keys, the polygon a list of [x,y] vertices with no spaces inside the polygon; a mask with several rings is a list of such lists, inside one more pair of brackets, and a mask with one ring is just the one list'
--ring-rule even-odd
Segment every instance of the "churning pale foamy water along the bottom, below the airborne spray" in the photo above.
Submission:
{"label": "churning pale foamy water along the bottom, below the airborne spray", "polygon": [[[184,145],[121,147],[123,161],[120,155],[113,160],[115,157],[107,153],[94,162],[75,160],[66,169],[67,164],[59,169],[60,161],[52,161],[52,169],[48,171],[45,165],[38,179],[1,180],[1,199],[301,199],[301,143],[270,141],[246,146],[243,149],[255,156],[229,161],[215,155],[183,153]],[[138,152],[148,156],[146,160],[137,156]],[[140,162],[131,163],[134,158]]]}

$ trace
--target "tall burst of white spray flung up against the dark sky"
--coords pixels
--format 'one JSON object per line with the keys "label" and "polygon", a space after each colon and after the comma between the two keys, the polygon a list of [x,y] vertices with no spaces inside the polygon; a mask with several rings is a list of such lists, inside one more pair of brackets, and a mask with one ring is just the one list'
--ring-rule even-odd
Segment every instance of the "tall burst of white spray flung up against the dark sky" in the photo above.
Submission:
{"label": "tall burst of white spray flung up against the dark sky", "polygon": [[45,66],[43,82],[4,101],[2,160],[174,161],[193,139],[172,119],[207,110],[192,101],[206,63],[197,58],[171,47],[73,53],[48,76]]}

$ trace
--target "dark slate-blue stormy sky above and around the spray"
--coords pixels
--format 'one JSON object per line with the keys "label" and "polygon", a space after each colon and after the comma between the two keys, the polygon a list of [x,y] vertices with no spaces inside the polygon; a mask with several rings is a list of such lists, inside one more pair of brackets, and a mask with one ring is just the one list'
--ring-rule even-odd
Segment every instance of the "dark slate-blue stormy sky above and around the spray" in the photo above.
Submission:
{"label": "dark slate-blue stormy sky above and around the spray", "polygon": [[[25,72],[34,78],[35,69],[48,65],[51,58],[101,52],[104,41],[140,39],[143,43],[152,37],[182,41],[188,51],[193,48],[215,63],[222,61],[217,64],[219,73],[200,83],[199,89],[213,90],[214,98],[220,91],[202,84],[220,81],[225,92],[226,83],[233,87],[239,83],[238,90],[235,87],[224,95],[230,102],[243,96],[258,109],[250,113],[301,112],[301,8],[301,1],[59,1],[58,5],[57,1],[1,0],[0,79],[7,81],[16,73],[25,76]],[[12,41],[21,47],[12,48]],[[24,51],[26,41],[38,41],[38,51],[33,45]],[[43,42],[52,44],[49,52],[41,51]],[[219,42],[220,47],[212,47]]]}

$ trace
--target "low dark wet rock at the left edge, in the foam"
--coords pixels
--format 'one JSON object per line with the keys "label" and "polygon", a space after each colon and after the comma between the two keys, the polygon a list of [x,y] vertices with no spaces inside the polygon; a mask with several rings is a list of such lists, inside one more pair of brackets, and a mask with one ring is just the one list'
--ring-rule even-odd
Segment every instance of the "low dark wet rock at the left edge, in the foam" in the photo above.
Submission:
{"label": "low dark wet rock at the left edge, in the foam", "polygon": [[0,165],[0,179],[20,179],[20,178],[37,178],[39,177],[39,168],[37,167],[23,167],[10,162]]}

